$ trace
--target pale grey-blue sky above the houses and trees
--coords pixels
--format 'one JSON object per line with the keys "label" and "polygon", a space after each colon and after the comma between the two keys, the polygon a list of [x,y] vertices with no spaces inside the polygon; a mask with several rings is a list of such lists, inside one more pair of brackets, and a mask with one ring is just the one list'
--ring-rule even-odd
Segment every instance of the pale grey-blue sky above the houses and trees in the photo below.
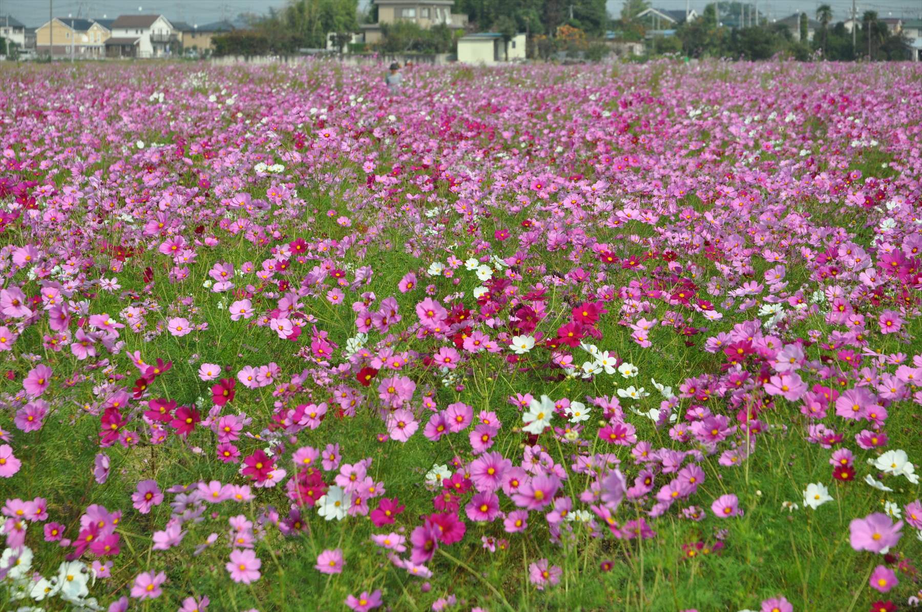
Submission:
{"label": "pale grey-blue sky above the houses and trees", "polygon": [[[502,0],[495,0],[502,2]],[[812,17],[822,0],[748,0],[758,6],[762,14],[783,18],[798,10]],[[160,13],[168,19],[189,24],[205,24],[222,18],[234,18],[243,12],[266,13],[270,7],[280,8],[288,0],[52,0],[54,17],[115,18],[126,13]],[[835,20],[841,20],[851,11],[852,0],[825,0],[833,6]],[[361,0],[361,5],[368,0]],[[689,6],[701,12],[707,0],[689,0]],[[39,26],[48,20],[49,0],[0,0],[0,15],[7,12],[27,26]],[[609,13],[617,17],[623,0],[608,0]],[[685,0],[654,0],[657,8],[684,9]],[[858,11],[876,10],[881,17],[922,18],[922,0],[857,0]]]}

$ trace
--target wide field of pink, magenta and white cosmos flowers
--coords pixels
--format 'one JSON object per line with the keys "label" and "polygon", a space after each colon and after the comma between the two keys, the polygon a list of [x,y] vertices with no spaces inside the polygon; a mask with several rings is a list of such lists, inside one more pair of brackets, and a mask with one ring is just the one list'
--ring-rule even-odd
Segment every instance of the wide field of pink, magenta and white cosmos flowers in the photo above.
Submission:
{"label": "wide field of pink, magenta and white cosmos flowers", "polygon": [[0,601],[922,598],[922,65],[0,68]]}

